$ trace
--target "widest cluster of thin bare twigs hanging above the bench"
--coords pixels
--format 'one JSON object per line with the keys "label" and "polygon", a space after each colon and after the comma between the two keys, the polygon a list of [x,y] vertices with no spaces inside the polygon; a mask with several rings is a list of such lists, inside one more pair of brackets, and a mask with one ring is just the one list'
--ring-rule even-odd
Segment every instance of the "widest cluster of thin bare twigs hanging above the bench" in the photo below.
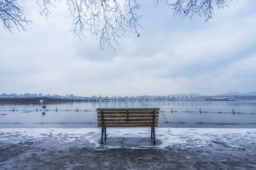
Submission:
{"label": "widest cluster of thin bare twigs hanging above the bench", "polygon": [[125,32],[125,17],[117,1],[67,0],[67,4],[73,34],[81,38],[84,31],[91,32],[99,37],[100,50],[114,48],[113,43]]}

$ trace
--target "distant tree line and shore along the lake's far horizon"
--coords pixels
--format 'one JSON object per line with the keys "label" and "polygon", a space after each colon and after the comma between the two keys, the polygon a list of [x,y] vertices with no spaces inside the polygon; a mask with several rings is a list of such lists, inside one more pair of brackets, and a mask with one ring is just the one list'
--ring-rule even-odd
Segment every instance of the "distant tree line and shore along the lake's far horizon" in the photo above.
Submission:
{"label": "distant tree line and shore along the lake's far horizon", "polygon": [[[14,101],[14,102],[39,102],[44,101],[205,101],[214,97],[220,96],[200,96],[199,94],[186,95],[168,95],[168,96],[91,96],[81,97],[67,94],[66,96],[47,94],[1,94],[0,101]],[[221,96],[223,97],[223,96]],[[228,99],[236,100],[256,100],[256,96],[227,96]]]}

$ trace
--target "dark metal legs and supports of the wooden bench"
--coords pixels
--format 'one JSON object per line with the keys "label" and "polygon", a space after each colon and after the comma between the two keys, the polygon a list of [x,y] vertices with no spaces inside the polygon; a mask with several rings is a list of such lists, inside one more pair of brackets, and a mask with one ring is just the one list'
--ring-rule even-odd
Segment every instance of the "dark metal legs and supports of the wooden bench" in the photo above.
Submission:
{"label": "dark metal legs and supports of the wooden bench", "polygon": [[[148,108],[148,109],[150,109],[150,108]],[[159,108],[156,108],[156,110],[159,111]],[[151,139],[153,139],[154,145],[156,145],[156,132],[155,132],[156,110],[152,110],[153,111],[153,115],[152,115],[152,126],[151,126]],[[106,138],[107,138],[106,126],[104,125],[104,109],[97,109],[97,111],[100,111],[100,115],[101,115],[101,117],[100,117],[101,118],[101,139],[100,139],[100,144],[103,144],[103,136],[104,136],[105,141],[106,141]],[[134,109],[133,109],[133,111],[134,111]],[[129,109],[127,109],[127,122],[129,122]],[[120,126],[120,127],[122,127],[122,126]]]}

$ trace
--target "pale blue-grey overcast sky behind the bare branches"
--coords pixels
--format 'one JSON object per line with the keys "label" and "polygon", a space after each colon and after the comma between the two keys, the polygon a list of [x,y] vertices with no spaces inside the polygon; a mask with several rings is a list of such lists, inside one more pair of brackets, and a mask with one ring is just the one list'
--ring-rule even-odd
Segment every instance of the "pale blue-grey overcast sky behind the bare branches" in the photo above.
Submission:
{"label": "pale blue-grey overcast sky behind the bare branches", "polygon": [[115,52],[99,51],[86,32],[70,32],[67,7],[48,20],[22,3],[33,20],[26,32],[0,27],[0,94],[132,96],[256,90],[255,0],[232,2],[214,17],[173,17],[165,6],[141,3],[140,37],[127,32]]}

